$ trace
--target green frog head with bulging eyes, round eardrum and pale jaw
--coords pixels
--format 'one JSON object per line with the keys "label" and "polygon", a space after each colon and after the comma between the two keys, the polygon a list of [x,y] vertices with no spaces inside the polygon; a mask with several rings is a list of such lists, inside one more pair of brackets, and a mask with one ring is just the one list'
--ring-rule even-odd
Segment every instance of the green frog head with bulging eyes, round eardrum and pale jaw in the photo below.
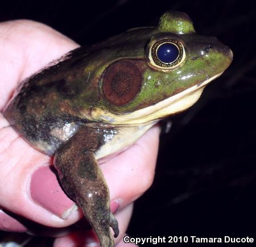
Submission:
{"label": "green frog head with bulging eyes, round eardrum and pale jaw", "polygon": [[[197,35],[182,12],[166,12],[158,27],[134,28],[94,47],[99,86],[92,118],[113,124],[161,119],[192,106],[232,61],[216,37]],[[96,66],[97,64],[97,66]]]}

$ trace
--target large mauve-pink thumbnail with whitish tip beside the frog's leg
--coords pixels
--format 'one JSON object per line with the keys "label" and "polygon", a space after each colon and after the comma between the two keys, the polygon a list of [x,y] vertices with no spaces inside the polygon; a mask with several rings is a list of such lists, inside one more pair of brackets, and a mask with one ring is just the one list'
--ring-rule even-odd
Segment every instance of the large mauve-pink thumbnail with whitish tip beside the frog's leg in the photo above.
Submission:
{"label": "large mauve-pink thumbnail with whitish tip beside the frog's leg", "polygon": [[77,209],[76,204],[61,189],[50,166],[40,166],[34,171],[30,182],[30,194],[34,202],[61,219],[67,219]]}

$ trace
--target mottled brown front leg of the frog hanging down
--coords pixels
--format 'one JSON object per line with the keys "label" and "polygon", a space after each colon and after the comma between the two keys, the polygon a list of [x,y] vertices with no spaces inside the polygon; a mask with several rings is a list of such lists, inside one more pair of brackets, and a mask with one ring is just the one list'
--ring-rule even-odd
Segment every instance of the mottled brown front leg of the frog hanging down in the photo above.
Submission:
{"label": "mottled brown front leg of the frog hanging down", "polygon": [[94,152],[103,144],[102,131],[81,127],[57,150],[54,165],[69,196],[82,208],[102,247],[114,246],[110,226],[118,236],[118,223],[110,217],[109,189]]}

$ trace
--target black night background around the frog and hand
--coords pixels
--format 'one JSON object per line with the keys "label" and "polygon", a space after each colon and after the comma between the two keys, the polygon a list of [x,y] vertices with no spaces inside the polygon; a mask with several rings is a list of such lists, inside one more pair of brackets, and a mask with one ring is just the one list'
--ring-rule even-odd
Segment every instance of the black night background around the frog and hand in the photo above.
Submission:
{"label": "black night background around the frog and hand", "polygon": [[84,45],[155,26],[166,10],[187,13],[196,31],[217,36],[234,60],[195,106],[171,119],[154,184],[135,203],[128,233],[256,237],[255,1],[9,1],[1,2],[0,21],[37,20]]}

